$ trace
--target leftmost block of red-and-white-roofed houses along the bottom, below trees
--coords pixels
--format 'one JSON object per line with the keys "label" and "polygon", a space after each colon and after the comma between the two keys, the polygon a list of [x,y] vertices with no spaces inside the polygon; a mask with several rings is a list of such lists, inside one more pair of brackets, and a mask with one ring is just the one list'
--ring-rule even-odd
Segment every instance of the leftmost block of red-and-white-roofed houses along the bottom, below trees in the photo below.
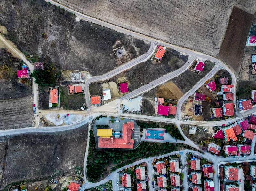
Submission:
{"label": "leftmost block of red-and-white-roofed houses along the bottom, below trees", "polygon": [[146,175],[146,168],[144,166],[139,166],[135,168],[134,173],[128,174],[128,173],[123,173],[121,174],[121,185],[120,185],[120,190],[125,190],[125,191],[131,191],[131,180],[135,179],[135,185],[133,187],[137,188],[137,191],[146,191],[147,190],[147,175]]}

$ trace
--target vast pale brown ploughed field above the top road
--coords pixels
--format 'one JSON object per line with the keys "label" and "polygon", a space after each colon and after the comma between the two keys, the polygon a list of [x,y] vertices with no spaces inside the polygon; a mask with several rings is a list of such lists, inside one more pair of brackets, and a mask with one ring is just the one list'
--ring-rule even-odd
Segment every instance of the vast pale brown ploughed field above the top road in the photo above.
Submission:
{"label": "vast pale brown ploughed field above the top road", "polygon": [[219,52],[232,7],[236,5],[253,14],[256,6],[253,0],[204,0],[203,3],[201,0],[146,0],[143,3],[126,0],[119,0],[118,3],[100,0],[95,3],[89,0],[86,4],[82,0],[57,2],[116,26],[208,55]]}

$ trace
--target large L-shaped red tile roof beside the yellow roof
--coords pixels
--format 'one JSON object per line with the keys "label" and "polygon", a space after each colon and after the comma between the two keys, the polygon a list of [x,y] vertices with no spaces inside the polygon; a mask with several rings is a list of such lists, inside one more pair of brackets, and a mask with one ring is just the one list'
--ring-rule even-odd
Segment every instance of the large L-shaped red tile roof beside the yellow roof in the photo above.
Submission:
{"label": "large L-shaped red tile roof beside the yellow roof", "polygon": [[132,139],[132,131],[134,131],[134,123],[127,122],[123,124],[122,138],[99,137],[99,148],[116,148],[116,149],[133,149],[134,139]]}

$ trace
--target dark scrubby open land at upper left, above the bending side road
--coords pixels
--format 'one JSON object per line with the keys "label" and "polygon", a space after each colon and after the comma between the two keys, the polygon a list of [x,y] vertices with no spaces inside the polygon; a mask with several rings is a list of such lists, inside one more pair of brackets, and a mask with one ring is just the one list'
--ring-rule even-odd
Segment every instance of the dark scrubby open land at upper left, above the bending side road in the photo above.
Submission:
{"label": "dark scrubby open land at upper left, above the bending side road", "polygon": [[0,14],[0,25],[7,28],[8,39],[25,55],[52,62],[55,70],[101,75],[124,64],[113,49],[123,46],[129,60],[150,47],[143,40],[76,20],[73,14],[44,0],[2,1]]}

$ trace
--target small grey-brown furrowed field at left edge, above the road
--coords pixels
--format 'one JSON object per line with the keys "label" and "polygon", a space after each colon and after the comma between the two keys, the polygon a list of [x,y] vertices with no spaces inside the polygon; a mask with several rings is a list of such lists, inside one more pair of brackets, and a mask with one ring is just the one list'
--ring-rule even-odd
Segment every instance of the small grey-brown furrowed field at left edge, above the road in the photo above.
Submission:
{"label": "small grey-brown furrowed field at left edge, above the road", "polygon": [[33,126],[31,97],[0,100],[0,130]]}

